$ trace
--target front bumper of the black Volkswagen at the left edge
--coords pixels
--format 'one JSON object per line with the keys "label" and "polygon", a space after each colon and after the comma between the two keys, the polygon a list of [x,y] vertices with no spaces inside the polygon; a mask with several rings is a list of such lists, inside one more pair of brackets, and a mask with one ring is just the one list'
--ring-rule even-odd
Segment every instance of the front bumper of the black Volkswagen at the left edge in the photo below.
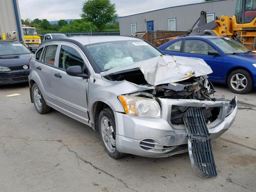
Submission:
{"label": "front bumper of the black Volkswagen at the left edge", "polygon": [[15,84],[28,82],[29,69],[12,70],[8,72],[0,72],[0,84]]}

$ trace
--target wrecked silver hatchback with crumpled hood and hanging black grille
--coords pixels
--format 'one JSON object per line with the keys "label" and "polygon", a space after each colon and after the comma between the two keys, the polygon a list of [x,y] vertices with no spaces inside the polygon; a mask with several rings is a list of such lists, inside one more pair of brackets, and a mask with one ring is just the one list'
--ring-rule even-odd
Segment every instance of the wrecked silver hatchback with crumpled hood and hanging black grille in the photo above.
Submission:
{"label": "wrecked silver hatchback with crumpled hood and hanging black grille", "polygon": [[30,60],[30,97],[100,133],[112,158],[189,152],[202,177],[217,176],[211,140],[234,122],[236,97],[214,98],[201,59],[167,56],[126,36],[48,40]]}

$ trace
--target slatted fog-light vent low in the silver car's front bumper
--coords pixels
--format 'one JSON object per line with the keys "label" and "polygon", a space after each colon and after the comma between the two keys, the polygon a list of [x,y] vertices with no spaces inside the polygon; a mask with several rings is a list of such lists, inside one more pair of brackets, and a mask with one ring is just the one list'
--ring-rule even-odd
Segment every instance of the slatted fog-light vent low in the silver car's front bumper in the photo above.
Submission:
{"label": "slatted fog-light vent low in the silver car's front bumper", "polygon": [[168,152],[176,148],[177,146],[167,146],[158,144],[158,142],[154,139],[144,139],[140,142],[140,148],[146,151],[154,151],[154,152]]}

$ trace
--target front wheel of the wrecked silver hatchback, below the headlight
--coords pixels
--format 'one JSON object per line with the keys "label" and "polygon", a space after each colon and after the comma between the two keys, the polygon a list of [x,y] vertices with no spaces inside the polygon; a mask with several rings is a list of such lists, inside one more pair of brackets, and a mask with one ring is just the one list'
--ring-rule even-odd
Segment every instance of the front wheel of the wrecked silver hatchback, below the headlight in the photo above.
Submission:
{"label": "front wheel of the wrecked silver hatchback, below the headlight", "polygon": [[100,112],[98,119],[100,138],[108,155],[114,159],[124,157],[124,153],[116,149],[116,121],[114,113],[110,108]]}

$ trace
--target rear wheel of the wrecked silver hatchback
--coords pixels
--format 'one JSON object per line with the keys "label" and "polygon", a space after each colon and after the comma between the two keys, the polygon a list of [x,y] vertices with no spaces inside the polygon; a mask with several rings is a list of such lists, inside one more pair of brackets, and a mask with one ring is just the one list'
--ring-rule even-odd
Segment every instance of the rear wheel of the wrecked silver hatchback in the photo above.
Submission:
{"label": "rear wheel of the wrecked silver hatchback", "polygon": [[38,113],[46,114],[50,112],[51,108],[44,101],[42,93],[36,83],[34,83],[32,86],[32,96],[33,96],[34,106]]}

